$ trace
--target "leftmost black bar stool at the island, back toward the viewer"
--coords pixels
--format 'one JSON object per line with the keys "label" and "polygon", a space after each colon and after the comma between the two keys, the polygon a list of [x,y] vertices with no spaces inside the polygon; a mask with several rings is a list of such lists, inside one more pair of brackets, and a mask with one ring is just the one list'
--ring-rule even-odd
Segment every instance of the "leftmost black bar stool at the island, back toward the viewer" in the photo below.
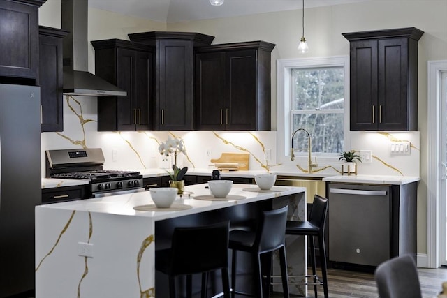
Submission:
{"label": "leftmost black bar stool at the island, back toward the viewer", "polygon": [[186,275],[187,297],[192,297],[192,274],[202,274],[206,297],[207,272],[221,269],[223,295],[230,298],[228,277],[229,221],[174,229],[171,248],[156,251],[155,269],[169,276],[169,297],[175,298],[175,276]]}

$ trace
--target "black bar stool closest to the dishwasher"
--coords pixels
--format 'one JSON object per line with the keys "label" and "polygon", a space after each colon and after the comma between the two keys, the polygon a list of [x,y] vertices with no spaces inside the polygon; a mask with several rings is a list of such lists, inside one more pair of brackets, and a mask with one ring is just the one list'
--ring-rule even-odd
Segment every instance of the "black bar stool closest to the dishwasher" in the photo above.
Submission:
{"label": "black bar stool closest to the dishwasher", "polygon": [[[314,285],[315,297],[318,297],[316,286],[323,285],[324,297],[328,298],[328,273],[326,266],[326,251],[324,244],[324,226],[326,221],[326,214],[328,211],[328,199],[320,195],[314,196],[314,203],[309,214],[308,221],[287,221],[286,234],[288,235],[302,235],[308,236],[310,242],[310,255],[312,262],[312,275],[307,277],[314,278],[313,283],[306,285]],[[323,281],[316,275],[316,260],[315,260],[315,244],[314,237],[318,239],[318,248],[320,250],[320,265]]]}

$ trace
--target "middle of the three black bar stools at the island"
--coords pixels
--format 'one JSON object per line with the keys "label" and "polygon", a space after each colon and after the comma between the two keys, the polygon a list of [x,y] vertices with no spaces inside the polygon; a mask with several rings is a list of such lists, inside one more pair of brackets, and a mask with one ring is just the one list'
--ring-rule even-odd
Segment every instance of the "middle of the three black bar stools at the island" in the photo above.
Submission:
{"label": "middle of the three black bar stools at the island", "polygon": [[[287,284],[287,262],[286,262],[286,248],[284,246],[284,237],[286,231],[287,209],[263,211],[261,221],[256,231],[247,230],[232,230],[230,232],[229,247],[233,250],[233,260],[231,267],[231,288],[232,297],[235,293],[246,296],[254,296],[256,298],[268,297],[270,290],[270,283],[265,283],[263,287],[263,277],[261,274],[261,255],[268,254],[271,262],[272,252],[279,250],[279,260],[281,265],[282,285],[284,297],[288,296]],[[254,267],[255,292],[254,295],[249,295],[243,292],[236,292],[236,253],[237,251],[244,251],[251,254]],[[270,281],[271,271],[268,270],[267,281]]]}

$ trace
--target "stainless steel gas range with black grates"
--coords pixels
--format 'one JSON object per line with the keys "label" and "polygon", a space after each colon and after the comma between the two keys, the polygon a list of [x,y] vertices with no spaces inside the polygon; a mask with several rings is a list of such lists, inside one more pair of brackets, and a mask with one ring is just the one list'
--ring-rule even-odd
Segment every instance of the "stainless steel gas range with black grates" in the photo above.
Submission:
{"label": "stainless steel gas range with black grates", "polygon": [[142,174],[136,171],[103,170],[101,148],[45,151],[46,177],[89,180],[89,196],[144,191]]}

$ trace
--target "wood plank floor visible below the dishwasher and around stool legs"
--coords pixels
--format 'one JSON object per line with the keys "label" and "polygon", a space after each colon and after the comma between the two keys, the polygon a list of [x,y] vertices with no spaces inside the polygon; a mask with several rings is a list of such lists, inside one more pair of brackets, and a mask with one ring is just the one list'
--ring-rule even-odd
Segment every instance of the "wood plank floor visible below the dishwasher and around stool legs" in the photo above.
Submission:
{"label": "wood plank floor visible below the dishwasher and around stool legs", "polygon": [[[318,270],[317,270],[318,271]],[[441,284],[447,281],[447,268],[425,269],[418,268],[420,287],[423,298],[435,298],[441,292]],[[319,276],[321,272],[318,271]],[[318,286],[318,297],[323,297],[323,286]],[[342,269],[328,269],[328,292],[331,298],[358,297],[376,298],[376,282],[374,274]],[[314,288],[309,287],[306,297],[314,298]],[[280,293],[273,293],[272,298],[283,297]],[[291,297],[298,297],[291,295]],[[411,297],[409,297],[411,298]]]}

